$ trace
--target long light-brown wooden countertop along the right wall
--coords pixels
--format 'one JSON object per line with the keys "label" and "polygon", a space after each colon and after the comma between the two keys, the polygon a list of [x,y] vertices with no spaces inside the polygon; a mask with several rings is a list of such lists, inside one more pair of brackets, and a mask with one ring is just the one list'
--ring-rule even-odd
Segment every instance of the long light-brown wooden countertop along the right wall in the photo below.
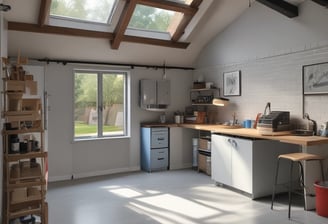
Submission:
{"label": "long light-brown wooden countertop along the right wall", "polygon": [[212,133],[228,134],[247,138],[277,140],[284,143],[297,144],[302,146],[328,144],[327,137],[321,136],[296,136],[291,134],[284,135],[261,135],[253,128],[234,128],[226,125],[211,124],[179,124],[179,127],[192,128],[196,130],[211,131]]}

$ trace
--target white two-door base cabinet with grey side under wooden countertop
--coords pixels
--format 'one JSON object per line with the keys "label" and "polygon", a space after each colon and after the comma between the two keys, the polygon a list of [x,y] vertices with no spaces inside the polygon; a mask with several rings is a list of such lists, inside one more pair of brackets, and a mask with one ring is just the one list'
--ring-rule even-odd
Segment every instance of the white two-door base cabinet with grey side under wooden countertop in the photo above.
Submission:
{"label": "white two-door base cabinet with grey side under wooden countertop", "polygon": [[[272,193],[276,160],[279,154],[297,152],[298,146],[273,140],[246,139],[212,134],[212,179],[246,192],[252,198]],[[280,169],[288,170],[288,164]],[[288,180],[280,172],[279,180]],[[281,191],[281,190],[279,190]]]}

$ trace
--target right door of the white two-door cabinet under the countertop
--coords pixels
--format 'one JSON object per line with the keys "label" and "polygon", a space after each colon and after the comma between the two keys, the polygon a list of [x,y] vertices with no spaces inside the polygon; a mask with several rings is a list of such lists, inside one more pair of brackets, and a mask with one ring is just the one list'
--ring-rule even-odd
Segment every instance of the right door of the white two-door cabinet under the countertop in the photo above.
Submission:
{"label": "right door of the white two-door cabinet under the countertop", "polygon": [[230,138],[232,187],[252,194],[252,140]]}

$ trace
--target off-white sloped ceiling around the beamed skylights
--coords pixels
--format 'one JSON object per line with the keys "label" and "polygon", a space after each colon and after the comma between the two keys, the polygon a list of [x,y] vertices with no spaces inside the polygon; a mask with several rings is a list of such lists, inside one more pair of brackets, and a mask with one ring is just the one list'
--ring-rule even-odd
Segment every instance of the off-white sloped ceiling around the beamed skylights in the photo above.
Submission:
{"label": "off-white sloped ceiling around the beamed skylights", "polygon": [[[204,0],[209,1],[209,0]],[[251,0],[252,4],[255,0]],[[304,0],[290,0],[300,4]],[[11,6],[3,13],[6,20],[37,24],[40,0],[4,0]],[[54,58],[120,62],[135,64],[193,66],[204,46],[249,7],[249,0],[213,0],[205,16],[200,20],[189,37],[187,49],[175,49],[136,43],[122,43],[118,50],[112,50],[109,40],[79,38],[64,35],[8,32],[8,54],[21,54],[30,58]]]}

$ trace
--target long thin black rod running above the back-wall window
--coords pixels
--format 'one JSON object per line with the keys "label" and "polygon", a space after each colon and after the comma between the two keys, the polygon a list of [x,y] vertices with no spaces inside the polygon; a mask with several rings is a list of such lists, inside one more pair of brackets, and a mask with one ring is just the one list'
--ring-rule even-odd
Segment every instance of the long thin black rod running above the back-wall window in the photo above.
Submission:
{"label": "long thin black rod running above the back-wall window", "polygon": [[191,67],[179,67],[179,66],[168,66],[168,65],[145,65],[145,64],[127,64],[127,63],[113,63],[113,62],[95,62],[95,61],[79,61],[79,60],[64,60],[64,59],[34,59],[40,62],[46,62],[49,64],[50,62],[55,62],[57,64],[62,63],[66,64],[92,64],[92,65],[113,65],[113,66],[124,66],[130,67],[134,69],[135,67],[143,67],[143,68],[154,68],[154,69],[181,69],[181,70],[195,70],[195,68]]}

